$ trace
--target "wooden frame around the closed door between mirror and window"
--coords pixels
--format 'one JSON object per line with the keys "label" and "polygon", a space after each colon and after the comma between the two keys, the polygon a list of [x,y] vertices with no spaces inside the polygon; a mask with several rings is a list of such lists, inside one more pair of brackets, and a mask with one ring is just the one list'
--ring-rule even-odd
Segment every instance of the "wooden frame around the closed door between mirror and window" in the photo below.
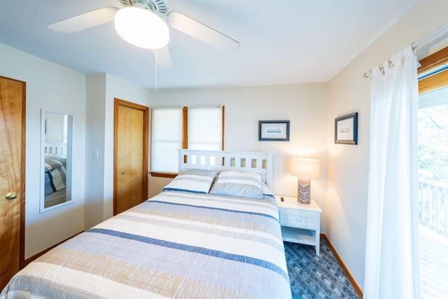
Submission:
{"label": "wooden frame around the closed door between mirror and window", "polygon": [[117,179],[118,179],[118,108],[120,106],[143,111],[143,195],[148,197],[148,116],[149,108],[139,104],[127,102],[123,99],[114,99],[113,111],[113,215],[117,214]]}

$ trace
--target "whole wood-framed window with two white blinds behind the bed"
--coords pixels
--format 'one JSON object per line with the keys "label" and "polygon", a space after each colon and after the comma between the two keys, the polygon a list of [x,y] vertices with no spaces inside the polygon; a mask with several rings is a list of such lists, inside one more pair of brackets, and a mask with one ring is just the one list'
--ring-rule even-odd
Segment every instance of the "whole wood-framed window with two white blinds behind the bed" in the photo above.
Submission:
{"label": "whole wood-framed window with two white blinds behind the bed", "polygon": [[224,149],[224,106],[152,109],[151,175],[174,177],[178,149]]}

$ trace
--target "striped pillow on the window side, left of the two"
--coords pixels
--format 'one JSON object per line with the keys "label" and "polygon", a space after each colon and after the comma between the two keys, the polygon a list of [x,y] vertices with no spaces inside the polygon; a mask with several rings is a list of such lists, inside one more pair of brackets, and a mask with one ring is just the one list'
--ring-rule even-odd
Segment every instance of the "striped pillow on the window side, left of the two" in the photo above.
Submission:
{"label": "striped pillow on the window side, left of the two", "polygon": [[165,188],[164,191],[176,190],[193,193],[209,193],[216,171],[207,169],[188,169],[179,172]]}

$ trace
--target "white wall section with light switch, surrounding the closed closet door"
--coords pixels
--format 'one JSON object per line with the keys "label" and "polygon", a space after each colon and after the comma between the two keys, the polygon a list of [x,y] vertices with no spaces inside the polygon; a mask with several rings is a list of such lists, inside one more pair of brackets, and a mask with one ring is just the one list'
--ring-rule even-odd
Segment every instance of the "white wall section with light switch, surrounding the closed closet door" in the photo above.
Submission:
{"label": "white wall section with light switch, surrounding the closed closet door", "polygon": [[[87,76],[85,228],[113,215],[114,99],[149,106],[150,92],[109,74]],[[98,150],[99,158],[93,158]]]}

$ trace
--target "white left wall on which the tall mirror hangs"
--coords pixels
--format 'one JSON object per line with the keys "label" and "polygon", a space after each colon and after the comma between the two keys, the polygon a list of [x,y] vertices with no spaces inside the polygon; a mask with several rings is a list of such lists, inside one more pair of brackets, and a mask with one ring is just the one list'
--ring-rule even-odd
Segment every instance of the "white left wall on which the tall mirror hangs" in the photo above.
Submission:
{"label": "white left wall on which the tall mirror hangs", "polygon": [[[85,75],[0,44],[0,75],[27,83],[25,258],[84,229]],[[39,213],[41,109],[73,113],[73,193]]]}

